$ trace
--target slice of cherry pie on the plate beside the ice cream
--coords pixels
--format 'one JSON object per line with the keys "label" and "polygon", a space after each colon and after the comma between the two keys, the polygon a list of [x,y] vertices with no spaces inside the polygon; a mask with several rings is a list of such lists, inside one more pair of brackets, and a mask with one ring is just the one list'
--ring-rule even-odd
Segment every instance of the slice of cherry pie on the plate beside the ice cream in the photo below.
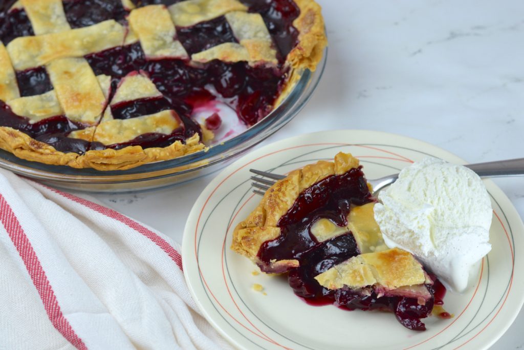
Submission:
{"label": "slice of cherry pie on the plate beside the ice cream", "polygon": [[271,186],[236,226],[232,249],[263,272],[287,273],[310,303],[391,311],[402,325],[425,330],[420,319],[442,304],[445,289],[412,254],[387,248],[375,203],[358,160],[339,153]]}

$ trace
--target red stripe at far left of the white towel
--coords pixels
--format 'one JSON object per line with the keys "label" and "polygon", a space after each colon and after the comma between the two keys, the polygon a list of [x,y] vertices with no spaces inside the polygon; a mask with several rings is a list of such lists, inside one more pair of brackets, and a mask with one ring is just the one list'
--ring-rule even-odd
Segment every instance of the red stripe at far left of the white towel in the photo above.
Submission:
{"label": "red stripe at far left of the white towel", "polygon": [[1,194],[0,222],[4,225],[9,238],[13,241],[18,254],[20,254],[20,257],[24,261],[27,272],[29,272],[31,280],[35,285],[38,294],[40,294],[43,307],[46,309],[47,316],[54,328],[57,328],[58,332],[60,332],[60,334],[62,334],[63,337],[77,349],[86,350],[87,347],[82,342],[81,338],[74,332],[68,320],[65,319],[62,314],[57,297],[54,295],[51,284],[49,284],[49,280],[47,279],[46,272],[43,271],[35,250],[32,248],[24,229],[20,226],[20,222],[18,222],[15,213],[13,213],[13,209],[11,209],[4,196]]}

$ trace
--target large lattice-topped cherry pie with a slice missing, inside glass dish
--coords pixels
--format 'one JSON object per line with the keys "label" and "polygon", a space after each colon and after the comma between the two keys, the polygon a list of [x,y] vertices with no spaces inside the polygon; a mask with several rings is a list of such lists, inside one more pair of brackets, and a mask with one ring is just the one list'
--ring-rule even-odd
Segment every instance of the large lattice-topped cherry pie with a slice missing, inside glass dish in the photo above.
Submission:
{"label": "large lattice-topped cherry pie with a slice missing, inside glass dish", "polygon": [[326,45],[313,0],[19,0],[0,23],[0,148],[101,170],[204,150],[217,101],[255,124]]}

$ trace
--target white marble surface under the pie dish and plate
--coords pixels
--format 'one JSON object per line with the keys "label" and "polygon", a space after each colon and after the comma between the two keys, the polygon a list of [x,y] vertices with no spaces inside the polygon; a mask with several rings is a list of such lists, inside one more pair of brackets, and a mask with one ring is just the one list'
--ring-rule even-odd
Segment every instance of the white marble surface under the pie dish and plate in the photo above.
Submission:
{"label": "white marble surface under the pie dish and plate", "polygon": [[[318,130],[416,137],[466,161],[524,156],[524,2],[319,0],[330,48],[304,110],[264,144]],[[181,242],[211,177],[136,195],[96,195]],[[524,177],[496,179],[524,217]],[[524,348],[524,312],[493,349]]]}

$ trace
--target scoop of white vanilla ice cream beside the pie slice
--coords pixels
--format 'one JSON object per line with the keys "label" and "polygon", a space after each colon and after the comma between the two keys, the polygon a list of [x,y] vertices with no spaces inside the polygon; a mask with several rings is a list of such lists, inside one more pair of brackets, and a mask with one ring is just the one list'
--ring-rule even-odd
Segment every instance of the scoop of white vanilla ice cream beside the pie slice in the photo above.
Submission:
{"label": "scoop of white vanilla ice cream beside the pie slice", "polygon": [[447,288],[463,292],[491,250],[492,206],[470,169],[425,158],[381,190],[375,220],[389,248],[414,254]]}

